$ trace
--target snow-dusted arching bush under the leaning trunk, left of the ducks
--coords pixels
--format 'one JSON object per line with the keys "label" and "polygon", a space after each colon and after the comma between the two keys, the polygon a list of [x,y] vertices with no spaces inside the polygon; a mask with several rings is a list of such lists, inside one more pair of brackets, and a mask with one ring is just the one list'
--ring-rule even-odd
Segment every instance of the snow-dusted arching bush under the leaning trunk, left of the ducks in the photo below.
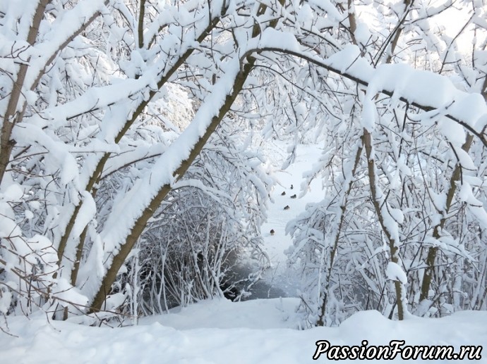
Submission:
{"label": "snow-dusted arching bush under the leaning trunk, left of the ducks", "polygon": [[237,143],[222,125],[148,223],[118,283],[125,291],[125,284],[133,286],[129,292],[138,289],[138,296],[127,297],[138,306],[134,313],[229,294],[235,283],[244,293],[259,275],[232,282],[232,267],[252,259],[267,268],[260,225],[272,180],[257,156]]}

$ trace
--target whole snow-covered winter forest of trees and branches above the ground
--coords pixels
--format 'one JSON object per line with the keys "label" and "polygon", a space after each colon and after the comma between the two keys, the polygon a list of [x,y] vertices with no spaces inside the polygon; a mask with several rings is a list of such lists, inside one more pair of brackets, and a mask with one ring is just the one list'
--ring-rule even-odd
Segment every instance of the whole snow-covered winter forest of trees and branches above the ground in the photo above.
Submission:
{"label": "whole snow-covered winter forest of trees and branches above the ground", "polygon": [[297,332],[487,318],[486,0],[1,0],[0,127],[9,345],[249,302],[311,185]]}

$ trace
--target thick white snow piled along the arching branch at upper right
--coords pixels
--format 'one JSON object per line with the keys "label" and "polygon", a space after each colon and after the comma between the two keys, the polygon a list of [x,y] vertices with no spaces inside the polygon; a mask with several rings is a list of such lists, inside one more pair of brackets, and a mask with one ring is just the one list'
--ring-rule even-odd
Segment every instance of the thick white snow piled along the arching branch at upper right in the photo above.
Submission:
{"label": "thick white snow piled along the arching branch at upper right", "polygon": [[[464,130],[459,125],[468,125],[479,132],[487,123],[487,104],[481,94],[462,92],[447,78],[426,70],[414,70],[406,64],[383,64],[373,68],[361,58],[360,49],[354,45],[347,45],[341,51],[323,60],[314,54],[296,51],[295,44],[283,42],[279,45],[282,50],[300,55],[327,68],[332,72],[346,75],[360,80],[368,85],[369,98],[377,92],[393,94],[394,99],[402,98],[409,103],[418,103],[434,109],[433,112],[423,113],[419,121],[428,122],[428,118],[439,118],[447,115],[447,120],[440,125],[441,132],[451,138],[450,142],[461,145],[464,142]],[[372,128],[371,107],[363,115],[364,126]],[[438,113],[439,112],[439,113]],[[457,131],[459,133],[457,134]]]}

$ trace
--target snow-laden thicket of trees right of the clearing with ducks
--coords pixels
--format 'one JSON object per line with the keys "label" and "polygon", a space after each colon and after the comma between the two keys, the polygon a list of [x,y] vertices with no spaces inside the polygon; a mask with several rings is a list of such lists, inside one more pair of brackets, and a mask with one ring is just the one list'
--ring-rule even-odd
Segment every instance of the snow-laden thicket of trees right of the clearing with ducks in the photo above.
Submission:
{"label": "snow-laden thicket of trees right of the clearing with ducks", "polygon": [[[349,8],[350,40],[374,75],[359,87],[329,77],[328,108],[341,120],[323,121],[323,156],[307,176],[323,180],[324,198],[288,226],[307,325],[338,325],[366,309],[402,319],[486,308],[485,116],[467,112],[486,107],[485,27],[467,20],[462,32],[482,35],[466,61],[455,42],[425,26],[439,8],[426,16],[423,5],[402,5],[386,39]],[[394,21],[392,8],[373,16]],[[418,42],[412,51],[410,42]],[[399,61],[416,70],[391,64]],[[342,72],[363,75],[360,62]],[[442,108],[424,107],[437,101]],[[459,118],[471,121],[460,126]]]}

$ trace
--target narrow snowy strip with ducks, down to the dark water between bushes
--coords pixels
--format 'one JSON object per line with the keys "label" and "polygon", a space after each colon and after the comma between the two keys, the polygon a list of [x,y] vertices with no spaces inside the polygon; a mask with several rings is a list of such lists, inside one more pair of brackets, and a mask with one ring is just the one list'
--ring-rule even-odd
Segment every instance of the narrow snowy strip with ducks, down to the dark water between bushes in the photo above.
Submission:
{"label": "narrow snowy strip with ducks, down to the dark water between bushes", "polygon": [[[287,265],[285,251],[292,241],[289,234],[286,234],[286,225],[305,210],[307,203],[320,201],[324,197],[319,179],[313,180],[309,185],[303,179],[303,175],[317,163],[321,150],[315,144],[299,144],[296,158],[286,169],[281,168],[289,156],[285,142],[269,141],[261,152],[269,161],[268,172],[276,181],[270,193],[270,203],[267,204],[267,222],[262,225],[261,230],[271,267],[253,285],[251,296],[246,299],[296,297],[299,290],[299,272]],[[236,277],[244,279],[254,269],[251,263],[244,262],[234,272]]]}

